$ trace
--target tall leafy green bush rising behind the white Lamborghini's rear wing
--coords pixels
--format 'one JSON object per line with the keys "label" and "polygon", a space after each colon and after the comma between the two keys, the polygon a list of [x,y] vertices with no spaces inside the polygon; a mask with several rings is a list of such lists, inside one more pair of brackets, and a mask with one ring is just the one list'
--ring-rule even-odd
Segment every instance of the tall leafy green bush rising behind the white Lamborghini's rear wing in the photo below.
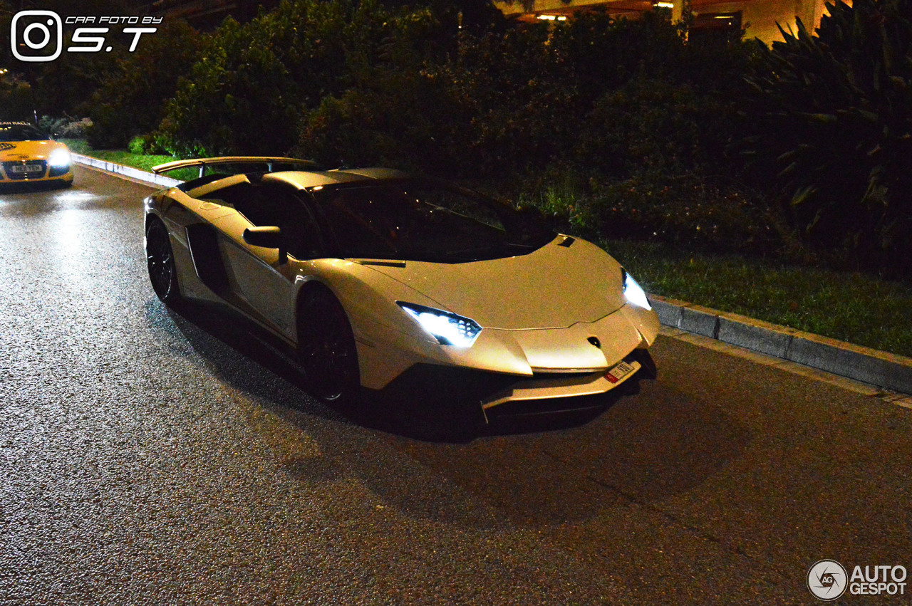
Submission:
{"label": "tall leafy green bush rising behind the white Lamborghini's rear wing", "polygon": [[159,128],[171,153],[283,153],[306,111],[378,60],[389,11],[371,0],[285,0],[227,19],[181,78]]}

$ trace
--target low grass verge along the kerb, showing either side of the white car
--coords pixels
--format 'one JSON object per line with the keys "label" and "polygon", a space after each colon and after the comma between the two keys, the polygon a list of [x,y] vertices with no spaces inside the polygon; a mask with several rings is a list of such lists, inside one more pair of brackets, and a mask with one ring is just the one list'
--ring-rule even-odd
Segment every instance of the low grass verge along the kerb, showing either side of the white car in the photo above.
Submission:
{"label": "low grass verge along the kerb, showing either side of the white car", "polygon": [[[91,149],[81,139],[65,142],[76,153],[143,170],[173,159]],[[912,287],[906,284],[736,255],[689,254],[661,243],[599,243],[649,293],[912,357]]]}

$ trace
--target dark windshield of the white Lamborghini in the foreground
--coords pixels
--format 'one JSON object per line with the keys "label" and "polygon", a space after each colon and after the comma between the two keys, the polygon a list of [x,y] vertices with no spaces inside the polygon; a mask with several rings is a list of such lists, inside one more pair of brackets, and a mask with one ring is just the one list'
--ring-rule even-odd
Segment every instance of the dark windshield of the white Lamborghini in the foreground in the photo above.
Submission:
{"label": "dark windshield of the white Lamborghini in the foreground", "polygon": [[554,239],[528,214],[437,183],[343,186],[315,197],[346,258],[482,261],[533,252]]}

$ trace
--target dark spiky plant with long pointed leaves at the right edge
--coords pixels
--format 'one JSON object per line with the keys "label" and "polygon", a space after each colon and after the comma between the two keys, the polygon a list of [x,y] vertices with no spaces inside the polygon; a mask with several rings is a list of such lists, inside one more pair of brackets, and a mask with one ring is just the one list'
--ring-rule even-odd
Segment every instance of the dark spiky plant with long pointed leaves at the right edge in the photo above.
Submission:
{"label": "dark spiky plant with long pointed leaves at the right edge", "polygon": [[827,5],[762,47],[745,152],[803,238],[871,268],[912,256],[912,0]]}

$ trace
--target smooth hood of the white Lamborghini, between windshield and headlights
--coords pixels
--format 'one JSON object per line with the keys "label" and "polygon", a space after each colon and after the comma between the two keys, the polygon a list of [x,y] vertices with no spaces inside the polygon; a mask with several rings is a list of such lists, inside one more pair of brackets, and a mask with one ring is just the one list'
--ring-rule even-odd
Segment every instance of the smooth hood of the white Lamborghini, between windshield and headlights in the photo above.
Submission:
{"label": "smooth hood of the white Lamborghini, between windshield and headlights", "polygon": [[564,328],[624,302],[620,265],[585,240],[559,236],[522,256],[467,263],[363,262],[485,328]]}

